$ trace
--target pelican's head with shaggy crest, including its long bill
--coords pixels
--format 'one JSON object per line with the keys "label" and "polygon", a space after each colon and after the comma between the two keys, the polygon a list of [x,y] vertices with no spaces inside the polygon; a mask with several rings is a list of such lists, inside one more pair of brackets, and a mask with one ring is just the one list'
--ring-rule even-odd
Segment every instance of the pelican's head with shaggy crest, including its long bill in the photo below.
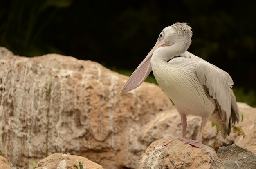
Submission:
{"label": "pelican's head with shaggy crest, including its long bill", "polygon": [[191,27],[189,27],[187,23],[178,22],[164,28],[160,33],[155,46],[132,73],[124,87],[121,89],[119,95],[139,87],[139,85],[144,82],[152,71],[151,58],[155,52],[160,52],[163,49],[165,54],[162,55],[162,59],[167,62],[167,60],[184,53],[189,48],[191,44],[191,36]]}

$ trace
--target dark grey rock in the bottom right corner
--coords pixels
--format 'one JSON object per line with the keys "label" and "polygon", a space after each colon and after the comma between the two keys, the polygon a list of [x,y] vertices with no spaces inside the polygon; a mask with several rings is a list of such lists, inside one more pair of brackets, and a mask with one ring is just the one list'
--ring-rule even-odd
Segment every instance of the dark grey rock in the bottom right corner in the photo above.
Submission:
{"label": "dark grey rock in the bottom right corner", "polygon": [[256,156],[236,144],[220,147],[210,169],[256,169]]}

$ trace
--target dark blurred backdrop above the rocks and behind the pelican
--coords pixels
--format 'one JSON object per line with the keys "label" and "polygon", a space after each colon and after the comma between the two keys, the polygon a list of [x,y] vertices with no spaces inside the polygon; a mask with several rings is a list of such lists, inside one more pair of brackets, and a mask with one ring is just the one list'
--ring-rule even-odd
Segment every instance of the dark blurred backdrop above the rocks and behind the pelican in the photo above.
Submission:
{"label": "dark blurred backdrop above the rocks and behind the pelican", "polygon": [[193,28],[189,52],[227,71],[234,87],[256,90],[255,0],[0,0],[0,46],[134,70],[175,22]]}

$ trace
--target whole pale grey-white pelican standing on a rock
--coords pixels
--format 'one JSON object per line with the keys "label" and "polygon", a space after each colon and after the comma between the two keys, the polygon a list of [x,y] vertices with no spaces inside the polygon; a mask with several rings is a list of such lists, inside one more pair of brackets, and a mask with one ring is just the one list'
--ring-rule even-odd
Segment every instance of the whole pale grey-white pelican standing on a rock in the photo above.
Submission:
{"label": "whole pale grey-white pelican standing on a rock", "polygon": [[[164,28],[153,49],[139,64],[120,91],[120,96],[137,88],[153,71],[164,93],[181,116],[180,140],[202,148],[202,134],[207,120],[220,127],[226,138],[231,125],[241,121],[229,74],[213,64],[189,53],[192,31],[187,23]],[[196,140],[186,139],[187,115],[202,117]],[[168,144],[166,144],[168,145]]]}

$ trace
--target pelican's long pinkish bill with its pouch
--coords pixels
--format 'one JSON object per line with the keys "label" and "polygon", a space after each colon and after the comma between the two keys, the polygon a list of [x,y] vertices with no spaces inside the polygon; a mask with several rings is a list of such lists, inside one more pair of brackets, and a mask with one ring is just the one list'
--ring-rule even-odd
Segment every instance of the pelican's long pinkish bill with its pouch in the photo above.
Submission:
{"label": "pelican's long pinkish bill with its pouch", "polygon": [[151,51],[146,56],[146,58],[141,62],[141,64],[139,64],[137,69],[132,73],[130,78],[124,84],[119,95],[121,96],[123,93],[126,93],[128,91],[131,91],[132,89],[139,87],[139,85],[141,85],[141,83],[144,82],[144,80],[148,77],[148,75],[152,71],[151,57],[154,51],[159,47],[169,46],[172,44],[173,42],[166,42],[165,39],[157,41],[155,46],[151,49]]}

